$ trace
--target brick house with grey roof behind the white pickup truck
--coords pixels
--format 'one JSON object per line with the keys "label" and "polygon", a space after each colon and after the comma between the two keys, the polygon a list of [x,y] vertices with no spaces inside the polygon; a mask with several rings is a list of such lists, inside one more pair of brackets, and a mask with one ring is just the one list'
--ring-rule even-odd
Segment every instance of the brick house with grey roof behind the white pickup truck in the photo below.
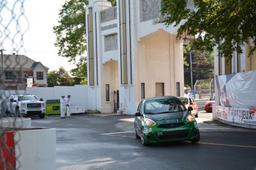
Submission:
{"label": "brick house with grey roof behind the white pickup truck", "polygon": [[2,55],[0,89],[26,89],[32,84],[47,86],[48,69],[25,55]]}

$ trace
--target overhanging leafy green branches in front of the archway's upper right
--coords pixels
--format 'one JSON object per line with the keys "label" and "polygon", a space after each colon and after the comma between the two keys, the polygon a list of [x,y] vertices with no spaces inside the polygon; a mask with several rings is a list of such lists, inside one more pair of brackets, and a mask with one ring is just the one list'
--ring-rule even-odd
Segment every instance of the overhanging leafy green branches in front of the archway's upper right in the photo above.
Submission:
{"label": "overhanging leafy green branches in front of the archway's upper right", "polygon": [[[162,4],[165,24],[181,24],[177,38],[197,35],[194,50],[211,52],[219,45],[220,55],[230,59],[234,51],[242,52],[240,45],[249,38],[256,44],[255,0],[162,0]],[[249,55],[255,50],[252,47]]]}

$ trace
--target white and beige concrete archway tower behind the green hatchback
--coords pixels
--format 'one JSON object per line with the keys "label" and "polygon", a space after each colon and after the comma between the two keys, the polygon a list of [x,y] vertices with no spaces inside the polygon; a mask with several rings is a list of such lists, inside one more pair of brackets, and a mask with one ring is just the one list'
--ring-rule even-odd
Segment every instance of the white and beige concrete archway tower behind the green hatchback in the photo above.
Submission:
{"label": "white and beige concrete archway tower behind the green hatchback", "polygon": [[183,42],[160,9],[160,0],[89,0],[88,109],[131,115],[142,98],[183,95]]}

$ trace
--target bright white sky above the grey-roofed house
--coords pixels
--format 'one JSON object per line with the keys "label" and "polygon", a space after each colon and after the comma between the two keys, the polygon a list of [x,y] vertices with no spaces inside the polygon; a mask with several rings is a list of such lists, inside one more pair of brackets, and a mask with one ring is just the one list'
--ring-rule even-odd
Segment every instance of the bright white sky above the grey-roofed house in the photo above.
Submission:
{"label": "bright white sky above the grey-roofed house", "polygon": [[[4,2],[6,4],[2,7]],[[59,67],[64,67],[66,71],[74,68],[75,65],[70,64],[68,58],[57,54],[58,49],[54,46],[56,35],[53,27],[58,25],[59,10],[64,2],[65,0],[2,0],[0,49],[4,49],[3,53],[26,55],[34,61],[40,61],[49,71],[58,70]],[[14,19],[11,18],[11,11],[15,13]]]}

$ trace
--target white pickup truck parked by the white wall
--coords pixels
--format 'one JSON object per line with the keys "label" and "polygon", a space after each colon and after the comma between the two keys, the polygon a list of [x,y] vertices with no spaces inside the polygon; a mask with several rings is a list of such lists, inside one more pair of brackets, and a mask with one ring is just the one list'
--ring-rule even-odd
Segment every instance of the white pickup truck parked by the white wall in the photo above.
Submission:
{"label": "white pickup truck parked by the white wall", "polygon": [[7,113],[19,117],[39,116],[45,118],[45,102],[31,94],[10,95],[7,105]]}

